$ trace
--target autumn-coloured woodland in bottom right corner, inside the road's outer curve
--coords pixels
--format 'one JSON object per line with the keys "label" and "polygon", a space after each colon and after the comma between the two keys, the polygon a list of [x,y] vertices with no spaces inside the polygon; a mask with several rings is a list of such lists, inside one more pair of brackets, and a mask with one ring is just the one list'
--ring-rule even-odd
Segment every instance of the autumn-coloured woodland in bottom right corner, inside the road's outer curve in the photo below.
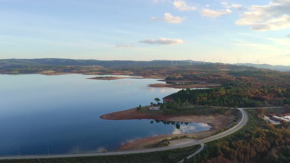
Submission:
{"label": "autumn-coloured woodland in bottom right corner, inside the road's outer curve", "polygon": [[290,131],[266,124],[247,111],[249,121],[238,132],[205,144],[188,163],[289,163]]}

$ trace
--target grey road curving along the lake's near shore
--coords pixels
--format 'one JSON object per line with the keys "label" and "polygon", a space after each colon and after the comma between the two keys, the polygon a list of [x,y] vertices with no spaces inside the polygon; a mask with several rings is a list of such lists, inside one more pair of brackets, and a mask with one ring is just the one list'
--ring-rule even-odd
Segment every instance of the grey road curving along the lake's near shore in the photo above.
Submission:
{"label": "grey road curving along the lake's near shore", "polygon": [[109,153],[87,153],[87,154],[65,154],[65,155],[49,155],[49,156],[48,155],[7,156],[7,157],[0,157],[0,160],[125,155],[125,154],[134,154],[134,153],[147,153],[147,152],[164,151],[164,150],[169,150],[169,149],[176,149],[176,148],[183,148],[183,147],[198,145],[198,144],[202,144],[204,142],[212,141],[212,140],[219,139],[221,137],[230,135],[230,134],[234,133],[235,131],[239,130],[241,127],[243,127],[246,124],[246,122],[248,121],[248,115],[243,109],[246,109],[246,108],[239,108],[239,110],[242,113],[242,119],[240,120],[240,122],[236,126],[232,127],[231,129],[229,129],[223,133],[220,133],[220,134],[215,135],[215,136],[206,137],[202,140],[193,140],[193,141],[189,141],[189,142],[185,142],[185,143],[176,144],[173,146],[167,146],[167,147],[162,147],[162,148],[144,149],[144,150],[135,150],[135,151],[120,151],[120,152],[109,152]]}

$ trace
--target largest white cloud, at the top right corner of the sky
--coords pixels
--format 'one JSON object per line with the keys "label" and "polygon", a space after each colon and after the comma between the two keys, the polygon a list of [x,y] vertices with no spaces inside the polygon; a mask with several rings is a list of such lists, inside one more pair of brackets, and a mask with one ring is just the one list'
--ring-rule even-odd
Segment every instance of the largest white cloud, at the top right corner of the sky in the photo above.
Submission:
{"label": "largest white cloud, at the top right corner of the sky", "polygon": [[268,5],[252,5],[241,14],[236,25],[252,30],[279,30],[290,27],[290,0],[272,0]]}

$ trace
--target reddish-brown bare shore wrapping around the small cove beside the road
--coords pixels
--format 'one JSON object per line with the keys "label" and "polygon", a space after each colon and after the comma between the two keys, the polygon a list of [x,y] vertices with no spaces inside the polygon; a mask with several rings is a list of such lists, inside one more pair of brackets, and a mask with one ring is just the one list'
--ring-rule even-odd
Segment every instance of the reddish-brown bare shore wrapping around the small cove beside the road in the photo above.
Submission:
{"label": "reddish-brown bare shore wrapping around the small cove beside the road", "polygon": [[[162,111],[162,110],[160,110]],[[231,125],[234,115],[167,115],[160,114],[159,111],[139,111],[137,109],[129,109],[124,111],[113,112],[100,116],[102,119],[110,120],[128,120],[128,119],[155,119],[155,120],[167,120],[174,122],[200,122],[206,123],[211,126],[210,130],[182,135],[161,135],[154,137],[147,137],[140,140],[135,140],[123,144],[118,150],[134,150],[134,149],[147,149],[156,147],[157,144],[164,138],[171,138],[174,136],[195,136],[206,137],[210,136],[220,129],[224,129]]]}

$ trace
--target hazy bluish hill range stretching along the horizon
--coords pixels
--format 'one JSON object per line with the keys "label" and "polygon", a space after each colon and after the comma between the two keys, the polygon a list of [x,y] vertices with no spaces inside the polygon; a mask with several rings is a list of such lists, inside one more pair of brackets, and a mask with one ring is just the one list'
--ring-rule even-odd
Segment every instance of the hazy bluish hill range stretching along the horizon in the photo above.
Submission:
{"label": "hazy bluish hill range stretching along the horizon", "polygon": [[[94,59],[62,59],[62,58],[39,58],[39,59],[0,59],[1,68],[23,68],[31,66],[92,66],[102,67],[144,67],[144,66],[168,66],[168,65],[203,65],[213,64],[212,62],[194,60],[152,60],[152,61],[132,61],[132,60],[94,60]],[[219,64],[219,63],[216,63]],[[230,65],[230,64],[227,64]],[[233,64],[237,65],[237,64]],[[240,63],[243,66],[257,67],[252,63]],[[290,71],[290,66],[260,64],[259,68]]]}

